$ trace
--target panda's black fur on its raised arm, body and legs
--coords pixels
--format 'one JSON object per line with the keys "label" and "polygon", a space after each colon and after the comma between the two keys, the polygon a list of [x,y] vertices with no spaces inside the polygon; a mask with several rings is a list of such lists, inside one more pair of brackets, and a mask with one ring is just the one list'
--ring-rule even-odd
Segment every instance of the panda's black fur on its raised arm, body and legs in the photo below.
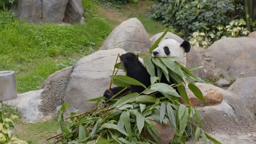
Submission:
{"label": "panda's black fur on its raised arm, body and legs", "polygon": [[[132,77],[133,79],[136,79],[137,81],[143,83],[146,87],[149,87],[151,85],[150,83],[150,75],[147,71],[147,69],[142,65],[141,62],[136,58],[135,54],[128,52],[120,56],[121,62],[123,63],[125,69],[126,69],[126,75],[129,77]],[[157,70],[155,72],[157,74]],[[162,83],[167,83],[168,85],[171,85],[171,83],[174,83],[172,80],[171,82],[168,82],[165,75],[162,75],[161,77]],[[104,92],[104,97],[107,99],[110,99],[113,97],[113,95],[117,94],[121,91],[121,89],[124,89],[123,87],[114,87],[110,90],[106,90]],[[142,86],[135,86],[131,85],[130,88],[125,89],[125,92],[131,91],[141,93],[144,91],[144,87]],[[125,92],[122,92],[123,94]],[[119,94],[117,97],[120,97],[123,94]],[[162,97],[162,94],[158,93],[156,94],[156,97]]]}

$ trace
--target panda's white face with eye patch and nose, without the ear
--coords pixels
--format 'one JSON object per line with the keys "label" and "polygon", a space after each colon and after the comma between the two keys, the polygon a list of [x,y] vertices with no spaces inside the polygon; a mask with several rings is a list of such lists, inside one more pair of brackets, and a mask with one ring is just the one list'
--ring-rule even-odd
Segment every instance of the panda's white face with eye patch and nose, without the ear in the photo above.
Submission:
{"label": "panda's white face with eye patch and nose, without the ear", "polygon": [[153,50],[153,57],[170,57],[170,56],[181,56],[181,44],[174,39],[164,39],[159,45]]}

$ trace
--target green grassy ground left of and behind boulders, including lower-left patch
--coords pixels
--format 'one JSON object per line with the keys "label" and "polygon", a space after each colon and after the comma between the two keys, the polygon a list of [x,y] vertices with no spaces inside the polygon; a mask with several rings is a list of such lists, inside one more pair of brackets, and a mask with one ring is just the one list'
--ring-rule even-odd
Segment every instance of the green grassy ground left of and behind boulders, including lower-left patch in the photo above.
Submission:
{"label": "green grassy ground left of and behind boulders, including lower-left patch", "polygon": [[[110,31],[130,17],[137,17],[150,35],[163,31],[161,23],[148,18],[150,4],[150,1],[139,2],[117,10],[87,1],[85,25],[22,25],[17,21],[4,25],[0,28],[0,70],[16,71],[19,93],[38,89],[51,73],[97,50]],[[8,108],[5,113],[13,112]],[[54,120],[34,124],[14,122],[19,139],[37,144],[52,143],[46,142],[46,138],[59,130]]]}

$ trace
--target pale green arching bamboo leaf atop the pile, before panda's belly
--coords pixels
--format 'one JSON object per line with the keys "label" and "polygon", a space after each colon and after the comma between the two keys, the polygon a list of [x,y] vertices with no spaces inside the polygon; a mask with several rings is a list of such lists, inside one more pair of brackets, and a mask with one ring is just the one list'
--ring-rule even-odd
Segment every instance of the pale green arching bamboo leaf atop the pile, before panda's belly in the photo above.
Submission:
{"label": "pale green arching bamboo leaf atop the pile, before panda's belly", "polygon": [[152,90],[159,91],[162,93],[173,95],[174,97],[180,97],[174,88],[167,85],[166,83],[154,83],[151,88]]}

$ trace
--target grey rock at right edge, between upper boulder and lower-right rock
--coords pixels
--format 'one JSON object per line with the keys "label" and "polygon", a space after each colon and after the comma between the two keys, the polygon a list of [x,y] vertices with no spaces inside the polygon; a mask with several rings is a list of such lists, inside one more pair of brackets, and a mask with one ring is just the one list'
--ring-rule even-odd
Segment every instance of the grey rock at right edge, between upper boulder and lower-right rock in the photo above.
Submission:
{"label": "grey rock at right edge, between upper boulder and lower-right rock", "polygon": [[246,103],[246,107],[256,115],[256,76],[244,77],[237,79],[228,91],[237,94],[242,101]]}

